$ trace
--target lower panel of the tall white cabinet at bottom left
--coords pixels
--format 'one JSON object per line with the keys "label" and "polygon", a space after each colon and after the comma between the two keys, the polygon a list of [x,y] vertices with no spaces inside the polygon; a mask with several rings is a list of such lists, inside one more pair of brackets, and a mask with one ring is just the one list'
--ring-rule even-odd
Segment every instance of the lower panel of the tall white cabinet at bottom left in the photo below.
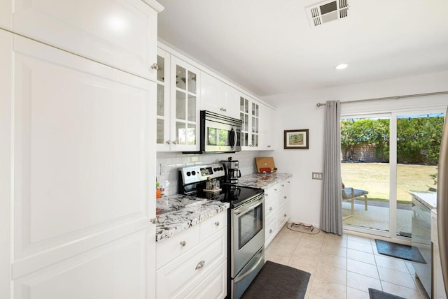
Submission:
{"label": "lower panel of the tall white cabinet at bottom left", "polygon": [[15,298],[145,299],[149,244],[146,231],[139,231],[51,265],[17,279]]}

